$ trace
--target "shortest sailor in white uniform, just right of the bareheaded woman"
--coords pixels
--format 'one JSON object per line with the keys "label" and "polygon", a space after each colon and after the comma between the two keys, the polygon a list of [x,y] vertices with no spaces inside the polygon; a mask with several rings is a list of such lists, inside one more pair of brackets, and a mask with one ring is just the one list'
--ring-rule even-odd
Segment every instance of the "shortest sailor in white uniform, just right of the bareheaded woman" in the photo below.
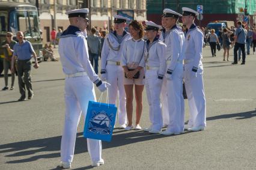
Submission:
{"label": "shortest sailor in white uniform, just right of the bareheaded woman", "polygon": [[160,133],[163,126],[160,105],[160,91],[163,76],[166,72],[165,48],[166,45],[157,38],[161,26],[154,22],[146,21],[147,43],[145,47],[145,88],[147,91],[148,105],[150,106],[151,126],[144,129],[150,133]]}

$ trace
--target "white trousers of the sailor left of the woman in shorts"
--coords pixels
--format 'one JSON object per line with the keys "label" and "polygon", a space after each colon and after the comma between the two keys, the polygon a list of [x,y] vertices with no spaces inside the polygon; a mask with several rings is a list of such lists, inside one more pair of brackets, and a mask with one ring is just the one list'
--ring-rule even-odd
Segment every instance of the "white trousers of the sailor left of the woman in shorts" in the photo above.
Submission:
{"label": "white trousers of the sailor left of the woman in shorts", "polygon": [[108,88],[109,103],[115,104],[117,102],[118,93],[118,120],[119,124],[127,123],[126,118],[126,93],[124,91],[124,71],[120,65],[106,65],[107,82],[111,84]]}

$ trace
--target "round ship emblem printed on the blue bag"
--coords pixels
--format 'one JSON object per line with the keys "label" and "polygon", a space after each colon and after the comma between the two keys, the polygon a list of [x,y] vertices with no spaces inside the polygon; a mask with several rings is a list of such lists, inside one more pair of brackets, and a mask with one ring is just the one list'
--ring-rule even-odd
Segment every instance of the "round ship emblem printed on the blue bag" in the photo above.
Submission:
{"label": "round ship emblem printed on the blue bag", "polygon": [[90,118],[89,128],[90,132],[102,135],[109,135],[111,133],[111,121],[113,115],[108,116],[106,112],[101,111],[96,113],[93,111],[93,116]]}

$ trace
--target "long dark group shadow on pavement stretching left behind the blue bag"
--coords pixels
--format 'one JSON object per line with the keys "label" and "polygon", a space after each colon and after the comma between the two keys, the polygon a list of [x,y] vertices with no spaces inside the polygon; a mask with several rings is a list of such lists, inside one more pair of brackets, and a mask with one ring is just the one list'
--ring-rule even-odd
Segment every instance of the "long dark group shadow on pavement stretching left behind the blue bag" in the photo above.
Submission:
{"label": "long dark group shadow on pavement stretching left behind the blue bag", "polygon": [[[115,131],[114,133],[117,133],[117,132]],[[186,133],[190,133],[190,132],[184,132],[181,135]],[[83,135],[82,132],[77,133],[75,154],[88,152],[87,142],[85,141],[85,138],[82,135]],[[111,142],[102,142],[102,148],[104,149],[115,148],[115,147],[120,147],[122,145],[128,145],[136,142],[142,142],[142,141],[148,141],[148,140],[160,139],[160,138],[166,138],[166,137],[168,138],[171,136],[174,136],[174,135],[170,135],[170,136],[158,135],[158,134],[154,135],[144,131],[130,131],[129,133],[120,132],[112,136]],[[14,142],[11,144],[0,145],[0,153],[7,153],[5,157],[17,157],[17,159],[20,156],[31,156],[26,159],[11,160],[6,163],[32,162],[38,159],[49,159],[49,158],[59,157],[60,144],[61,144],[61,136],[55,136],[52,138],[44,138],[44,139],[35,139],[32,141]],[[51,152],[51,153],[47,154],[45,152]],[[37,155],[32,156],[33,154],[37,154]]]}

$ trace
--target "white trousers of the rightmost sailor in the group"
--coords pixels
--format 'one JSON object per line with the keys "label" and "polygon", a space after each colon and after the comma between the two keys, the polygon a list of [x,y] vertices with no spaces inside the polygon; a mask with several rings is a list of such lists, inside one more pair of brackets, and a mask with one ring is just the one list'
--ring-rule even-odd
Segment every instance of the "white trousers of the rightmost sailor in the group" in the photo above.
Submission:
{"label": "white trousers of the rightmost sailor in the group", "polygon": [[200,61],[197,77],[191,76],[192,62],[184,65],[184,83],[189,102],[190,127],[206,127],[206,97],[204,96],[203,64]]}

